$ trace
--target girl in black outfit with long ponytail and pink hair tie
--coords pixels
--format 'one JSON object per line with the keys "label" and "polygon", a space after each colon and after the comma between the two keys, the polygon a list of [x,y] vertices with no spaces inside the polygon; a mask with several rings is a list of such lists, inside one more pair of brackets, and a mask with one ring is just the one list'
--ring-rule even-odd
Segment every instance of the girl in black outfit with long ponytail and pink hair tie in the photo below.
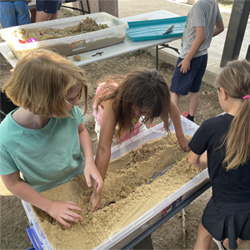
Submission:
{"label": "girl in black outfit with long ponytail and pink hair tie", "polygon": [[212,239],[231,250],[250,240],[249,72],[246,60],[227,64],[215,83],[226,113],[203,122],[189,143],[188,160],[208,166],[213,191],[194,249],[210,249]]}

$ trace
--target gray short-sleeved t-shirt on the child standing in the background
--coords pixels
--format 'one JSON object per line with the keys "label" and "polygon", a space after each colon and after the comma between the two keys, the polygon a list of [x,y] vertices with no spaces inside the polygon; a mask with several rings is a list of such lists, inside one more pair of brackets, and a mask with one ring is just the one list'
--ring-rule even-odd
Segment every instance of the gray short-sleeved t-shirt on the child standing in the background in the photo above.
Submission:
{"label": "gray short-sleeved t-shirt on the child standing in the background", "polygon": [[205,41],[194,57],[207,54],[210,46],[215,23],[222,20],[219,6],[216,0],[199,0],[188,13],[187,21],[182,37],[180,57],[184,58],[189,52],[196,37],[196,27],[205,27]]}

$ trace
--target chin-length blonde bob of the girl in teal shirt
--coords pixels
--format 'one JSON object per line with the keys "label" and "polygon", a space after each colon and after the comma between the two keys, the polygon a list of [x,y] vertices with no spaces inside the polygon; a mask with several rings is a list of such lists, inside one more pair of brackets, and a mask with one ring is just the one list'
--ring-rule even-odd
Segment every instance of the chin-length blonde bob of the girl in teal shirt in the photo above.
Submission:
{"label": "chin-length blonde bob of the girl in teal shirt", "polygon": [[62,118],[69,115],[67,94],[76,85],[84,90],[86,113],[88,86],[83,70],[55,52],[37,49],[21,58],[2,90],[15,105],[34,114]]}

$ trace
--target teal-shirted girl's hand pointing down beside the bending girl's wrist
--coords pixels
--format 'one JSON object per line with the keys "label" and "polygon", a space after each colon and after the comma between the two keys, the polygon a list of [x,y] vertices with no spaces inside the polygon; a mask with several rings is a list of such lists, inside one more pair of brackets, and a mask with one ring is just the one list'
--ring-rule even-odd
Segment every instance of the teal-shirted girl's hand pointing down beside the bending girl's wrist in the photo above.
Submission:
{"label": "teal-shirted girl's hand pointing down beside the bending girl's wrist", "polygon": [[93,163],[85,164],[84,176],[88,187],[91,187],[91,177],[95,180],[95,190],[100,193],[103,187],[102,177],[93,161]]}

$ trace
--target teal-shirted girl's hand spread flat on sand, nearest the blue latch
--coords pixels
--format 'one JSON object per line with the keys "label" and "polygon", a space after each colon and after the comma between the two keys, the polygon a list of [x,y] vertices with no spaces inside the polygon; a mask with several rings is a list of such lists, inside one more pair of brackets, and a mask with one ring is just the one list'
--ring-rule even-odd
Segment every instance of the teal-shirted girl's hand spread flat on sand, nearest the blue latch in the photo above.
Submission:
{"label": "teal-shirted girl's hand spread flat on sand, nearest the blue latch", "polygon": [[70,224],[66,221],[76,223],[82,218],[79,214],[82,213],[82,209],[72,201],[52,201],[51,206],[46,212],[66,227],[70,227]]}

